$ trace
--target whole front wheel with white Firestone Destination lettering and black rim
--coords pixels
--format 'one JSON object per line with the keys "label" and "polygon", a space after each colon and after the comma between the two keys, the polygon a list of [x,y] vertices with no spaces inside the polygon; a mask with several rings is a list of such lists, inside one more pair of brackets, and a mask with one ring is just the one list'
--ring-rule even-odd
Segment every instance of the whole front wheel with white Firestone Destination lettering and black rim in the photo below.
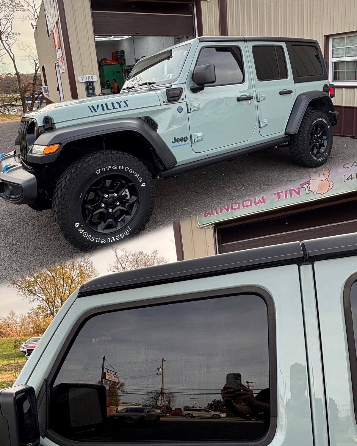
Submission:
{"label": "whole front wheel with white Firestone Destination lettering and black rim", "polygon": [[66,239],[90,251],[142,231],[154,203],[146,166],[127,153],[105,151],[80,158],[62,173],[52,208]]}

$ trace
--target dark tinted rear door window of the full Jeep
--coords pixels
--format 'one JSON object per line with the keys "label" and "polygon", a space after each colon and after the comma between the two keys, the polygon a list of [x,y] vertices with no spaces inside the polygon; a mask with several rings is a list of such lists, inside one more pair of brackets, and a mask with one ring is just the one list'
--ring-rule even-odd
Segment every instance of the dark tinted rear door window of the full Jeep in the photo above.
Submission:
{"label": "dark tinted rear door window of the full Jeep", "polygon": [[253,58],[259,81],[287,78],[287,67],[282,46],[254,45]]}

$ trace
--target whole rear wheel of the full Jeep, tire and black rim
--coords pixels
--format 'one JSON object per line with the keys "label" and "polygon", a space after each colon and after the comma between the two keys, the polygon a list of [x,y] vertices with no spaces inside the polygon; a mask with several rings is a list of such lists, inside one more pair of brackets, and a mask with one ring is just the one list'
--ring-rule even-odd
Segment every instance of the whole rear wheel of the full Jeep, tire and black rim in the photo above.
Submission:
{"label": "whole rear wheel of the full Jeep, tire and black rim", "polygon": [[332,127],[327,116],[322,111],[307,111],[299,131],[291,136],[291,157],[306,167],[323,165],[330,156],[332,139]]}

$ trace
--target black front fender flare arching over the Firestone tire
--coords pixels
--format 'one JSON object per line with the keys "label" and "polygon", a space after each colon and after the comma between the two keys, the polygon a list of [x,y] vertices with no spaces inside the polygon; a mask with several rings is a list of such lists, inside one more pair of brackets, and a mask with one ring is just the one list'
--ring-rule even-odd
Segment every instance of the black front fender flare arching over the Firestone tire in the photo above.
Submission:
{"label": "black front fender flare arching over the Firestone tire", "polygon": [[[35,141],[38,145],[60,144],[61,147],[54,153],[48,155],[28,154],[27,160],[36,164],[49,164],[56,161],[63,147],[69,143],[90,136],[100,136],[108,133],[134,131],[143,136],[151,145],[154,155],[164,166],[165,169],[171,169],[176,165],[176,157],[164,143],[160,135],[141,118],[122,118],[98,122],[87,122],[85,124],[71,125],[69,127],[56,128],[41,135]],[[135,156],[135,153],[133,153]]]}

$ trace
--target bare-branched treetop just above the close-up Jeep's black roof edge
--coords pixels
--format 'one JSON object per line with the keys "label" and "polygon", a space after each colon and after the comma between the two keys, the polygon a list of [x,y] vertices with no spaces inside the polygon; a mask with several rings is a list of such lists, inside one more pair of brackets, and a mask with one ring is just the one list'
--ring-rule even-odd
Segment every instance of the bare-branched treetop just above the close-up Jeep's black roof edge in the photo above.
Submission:
{"label": "bare-branched treetop just above the close-up Jeep's black roof edge", "polygon": [[111,248],[111,250],[115,254],[115,262],[110,265],[108,271],[112,273],[168,263],[168,259],[159,256],[159,251],[152,251],[150,253],[144,251],[136,252],[116,247]]}

